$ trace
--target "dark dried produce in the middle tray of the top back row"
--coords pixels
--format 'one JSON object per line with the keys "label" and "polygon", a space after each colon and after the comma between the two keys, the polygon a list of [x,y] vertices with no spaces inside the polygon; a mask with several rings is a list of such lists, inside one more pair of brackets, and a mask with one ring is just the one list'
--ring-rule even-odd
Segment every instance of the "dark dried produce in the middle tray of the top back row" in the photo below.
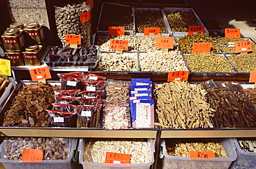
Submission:
{"label": "dark dried produce in the middle tray of the top back row", "polygon": [[167,34],[161,10],[135,10],[136,32],[143,33],[144,28],[160,28],[160,33]]}

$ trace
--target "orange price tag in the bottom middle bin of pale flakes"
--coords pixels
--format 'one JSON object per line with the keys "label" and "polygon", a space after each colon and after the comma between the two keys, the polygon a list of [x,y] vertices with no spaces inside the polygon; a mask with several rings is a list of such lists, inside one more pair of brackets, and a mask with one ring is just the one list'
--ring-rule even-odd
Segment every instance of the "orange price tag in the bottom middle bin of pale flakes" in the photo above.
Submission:
{"label": "orange price tag in the bottom middle bin of pale flakes", "polygon": [[106,152],[105,163],[130,163],[130,157],[129,154]]}

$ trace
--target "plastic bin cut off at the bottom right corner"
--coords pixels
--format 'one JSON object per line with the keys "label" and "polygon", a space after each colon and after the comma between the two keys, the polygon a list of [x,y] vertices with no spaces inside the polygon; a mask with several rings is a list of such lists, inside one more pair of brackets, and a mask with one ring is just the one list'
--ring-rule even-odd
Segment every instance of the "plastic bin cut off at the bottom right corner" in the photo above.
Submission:
{"label": "plastic bin cut off at the bottom right corner", "polygon": [[[247,140],[255,141],[255,138],[250,138]],[[230,168],[256,168],[256,152],[246,152],[241,150],[237,139],[233,139],[233,141],[237,151],[237,159],[232,162]]]}

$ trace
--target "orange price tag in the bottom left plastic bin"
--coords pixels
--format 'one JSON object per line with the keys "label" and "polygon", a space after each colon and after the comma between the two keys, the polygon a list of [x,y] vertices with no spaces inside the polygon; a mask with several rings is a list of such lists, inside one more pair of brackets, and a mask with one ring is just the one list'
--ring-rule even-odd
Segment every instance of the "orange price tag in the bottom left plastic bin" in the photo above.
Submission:
{"label": "orange price tag in the bottom left plastic bin", "polygon": [[21,162],[24,163],[42,163],[43,162],[42,149],[23,149]]}

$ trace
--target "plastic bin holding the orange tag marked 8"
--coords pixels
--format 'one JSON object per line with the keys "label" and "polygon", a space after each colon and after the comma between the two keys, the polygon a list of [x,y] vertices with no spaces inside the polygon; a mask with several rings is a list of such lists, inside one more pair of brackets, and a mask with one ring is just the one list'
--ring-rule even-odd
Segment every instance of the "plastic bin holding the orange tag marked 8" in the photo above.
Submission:
{"label": "plastic bin holding the orange tag marked 8", "polygon": [[[179,139],[181,140],[181,139]],[[191,142],[192,139],[181,141],[182,143]],[[218,169],[228,169],[232,161],[237,159],[237,152],[235,152],[235,145],[232,143],[232,139],[194,139],[193,142],[199,141],[217,141],[219,142],[224,150],[228,154],[228,158],[216,158],[216,159],[190,159],[190,157],[175,157],[167,155],[165,140],[162,142],[163,146],[163,168],[218,168]],[[175,140],[174,143],[179,142]],[[168,141],[170,143],[170,141]]]}

